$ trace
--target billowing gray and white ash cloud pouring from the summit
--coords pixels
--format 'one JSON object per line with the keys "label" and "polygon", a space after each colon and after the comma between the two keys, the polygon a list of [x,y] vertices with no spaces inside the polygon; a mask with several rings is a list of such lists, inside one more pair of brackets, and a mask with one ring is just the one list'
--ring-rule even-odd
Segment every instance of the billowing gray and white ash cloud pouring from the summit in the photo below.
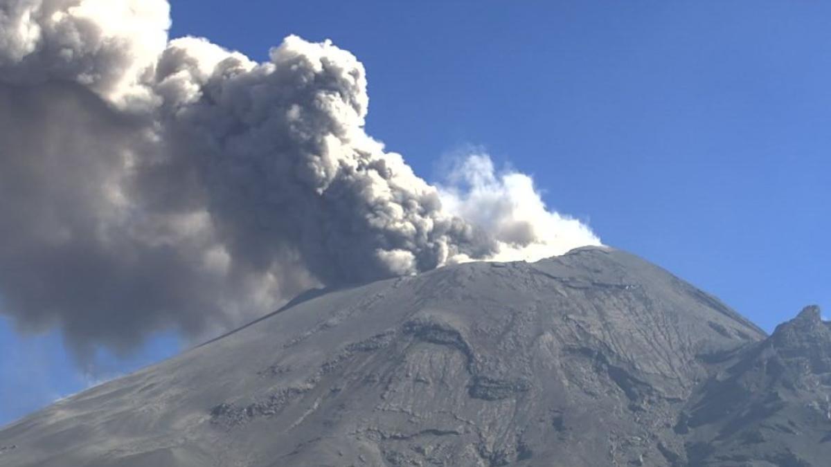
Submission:
{"label": "billowing gray and white ash cloud pouring from the summit", "polygon": [[129,348],[316,284],[598,243],[486,156],[416,176],[332,43],[256,63],[169,23],[164,0],[0,0],[0,307],[23,327]]}

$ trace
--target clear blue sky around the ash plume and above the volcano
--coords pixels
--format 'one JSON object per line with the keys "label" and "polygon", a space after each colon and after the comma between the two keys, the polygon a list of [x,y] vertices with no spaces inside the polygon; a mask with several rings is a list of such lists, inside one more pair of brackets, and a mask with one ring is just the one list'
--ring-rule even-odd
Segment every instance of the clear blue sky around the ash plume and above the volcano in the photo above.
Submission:
{"label": "clear blue sky around the ash plume and above the volcano", "polygon": [[[331,38],[366,66],[368,132],[426,179],[480,145],[768,331],[831,307],[831,3],[242,4],[173,0],[173,36],[258,60],[290,33]],[[57,333],[0,318],[0,424],[179,346],[82,371]]]}

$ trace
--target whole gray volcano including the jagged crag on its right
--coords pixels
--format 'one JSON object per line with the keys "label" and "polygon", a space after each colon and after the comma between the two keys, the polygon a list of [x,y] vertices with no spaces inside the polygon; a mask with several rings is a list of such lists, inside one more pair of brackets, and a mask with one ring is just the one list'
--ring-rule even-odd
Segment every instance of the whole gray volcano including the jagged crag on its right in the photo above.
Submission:
{"label": "whole gray volcano including the jagged crag on its right", "polygon": [[0,465],[823,465],[810,313],[766,338],[611,248],[311,292],[7,426]]}

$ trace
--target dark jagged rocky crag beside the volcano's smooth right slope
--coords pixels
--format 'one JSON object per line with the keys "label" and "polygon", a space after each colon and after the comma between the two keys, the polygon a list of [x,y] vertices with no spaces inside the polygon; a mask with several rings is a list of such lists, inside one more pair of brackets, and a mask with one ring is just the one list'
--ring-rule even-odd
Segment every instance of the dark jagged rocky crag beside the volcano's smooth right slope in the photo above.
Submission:
{"label": "dark jagged rocky crag beside the volcano's smooth right slope", "polygon": [[831,327],[818,307],[726,361],[681,417],[693,465],[831,464]]}

